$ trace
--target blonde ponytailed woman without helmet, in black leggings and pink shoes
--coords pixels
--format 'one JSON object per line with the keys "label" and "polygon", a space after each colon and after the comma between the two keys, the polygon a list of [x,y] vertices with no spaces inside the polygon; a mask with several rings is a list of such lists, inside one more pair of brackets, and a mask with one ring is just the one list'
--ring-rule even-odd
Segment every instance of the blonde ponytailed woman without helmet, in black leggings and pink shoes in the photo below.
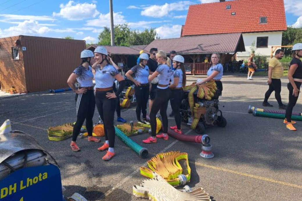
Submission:
{"label": "blonde ponytailed woman without helmet, in black leggings and pink shoes", "polygon": [[[156,96],[150,111],[150,123],[151,123],[151,136],[144,143],[155,143],[156,137],[168,140],[168,117],[167,108],[170,98],[169,81],[172,77],[171,60],[167,57],[167,54],[163,50],[159,50],[156,53],[157,62],[160,64],[156,71],[149,75],[149,81],[152,81],[156,76],[158,78],[158,85],[156,89]],[[163,133],[156,135],[156,114],[160,110],[162,116]]]}

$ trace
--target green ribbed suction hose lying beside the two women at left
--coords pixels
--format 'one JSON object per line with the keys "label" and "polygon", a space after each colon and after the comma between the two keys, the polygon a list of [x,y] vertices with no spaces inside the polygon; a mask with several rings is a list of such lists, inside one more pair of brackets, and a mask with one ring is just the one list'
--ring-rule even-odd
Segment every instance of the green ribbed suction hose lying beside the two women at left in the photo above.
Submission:
{"label": "green ribbed suction hose lying beside the two women at left", "polygon": [[117,137],[119,137],[120,140],[123,141],[125,144],[127,144],[127,146],[130,147],[133,151],[135,151],[137,154],[139,154],[140,157],[146,158],[148,156],[148,150],[146,148],[143,148],[142,146],[140,146],[139,144],[134,142],[132,139],[127,137],[127,135],[125,135],[117,127],[114,127],[114,128],[115,128],[115,134],[117,135]]}

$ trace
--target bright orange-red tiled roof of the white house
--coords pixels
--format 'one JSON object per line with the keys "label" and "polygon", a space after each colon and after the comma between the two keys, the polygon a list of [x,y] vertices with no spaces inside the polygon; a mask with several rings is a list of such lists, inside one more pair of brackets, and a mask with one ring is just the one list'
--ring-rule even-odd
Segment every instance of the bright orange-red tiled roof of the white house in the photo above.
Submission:
{"label": "bright orange-red tiled roof of the white house", "polygon": [[[231,8],[226,9],[226,5]],[[267,23],[260,24],[260,17],[267,17]],[[283,0],[217,0],[217,3],[190,5],[182,37],[286,29]]]}

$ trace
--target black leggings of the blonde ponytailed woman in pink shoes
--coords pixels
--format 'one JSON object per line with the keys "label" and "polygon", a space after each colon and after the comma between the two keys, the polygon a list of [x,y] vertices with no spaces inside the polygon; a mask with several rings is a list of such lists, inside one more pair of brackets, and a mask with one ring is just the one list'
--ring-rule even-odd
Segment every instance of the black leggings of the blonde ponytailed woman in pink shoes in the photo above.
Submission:
{"label": "black leggings of the blonde ponytailed woman in pink shoes", "polygon": [[164,133],[168,132],[168,117],[167,117],[167,108],[170,98],[170,89],[156,89],[156,96],[152,104],[150,111],[150,123],[152,137],[156,136],[156,114],[160,110],[160,115],[162,116],[162,125]]}

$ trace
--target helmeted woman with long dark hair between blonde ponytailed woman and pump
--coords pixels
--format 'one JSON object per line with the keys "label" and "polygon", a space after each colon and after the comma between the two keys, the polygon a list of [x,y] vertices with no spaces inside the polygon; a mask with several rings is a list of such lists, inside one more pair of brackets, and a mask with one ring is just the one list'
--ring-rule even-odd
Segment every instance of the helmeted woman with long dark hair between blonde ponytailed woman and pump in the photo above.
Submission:
{"label": "helmeted woman with long dark hair between blonde ponytailed woman and pump", "polygon": [[172,107],[172,114],[174,115],[176,125],[171,126],[175,132],[182,134],[181,117],[179,113],[180,104],[182,102],[183,90],[182,87],[186,85],[185,59],[180,55],[173,58],[173,79],[169,88],[171,89],[170,103]]}

